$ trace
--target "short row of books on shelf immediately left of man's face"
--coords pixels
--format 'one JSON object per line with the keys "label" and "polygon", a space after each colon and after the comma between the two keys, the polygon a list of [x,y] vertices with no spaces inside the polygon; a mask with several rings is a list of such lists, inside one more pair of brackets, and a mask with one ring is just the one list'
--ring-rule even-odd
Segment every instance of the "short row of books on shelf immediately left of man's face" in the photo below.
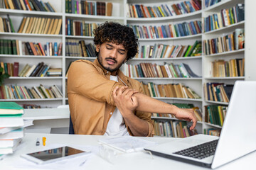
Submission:
{"label": "short row of books on shelf immediately left of man's face", "polygon": [[95,45],[85,44],[85,40],[66,40],[66,56],[96,57]]}

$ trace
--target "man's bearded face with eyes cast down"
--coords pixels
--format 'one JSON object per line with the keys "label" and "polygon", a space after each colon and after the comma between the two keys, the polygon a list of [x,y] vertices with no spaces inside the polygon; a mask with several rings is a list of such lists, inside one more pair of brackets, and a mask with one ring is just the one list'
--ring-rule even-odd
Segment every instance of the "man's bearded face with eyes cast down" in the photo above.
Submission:
{"label": "man's bearded face with eyes cast down", "polygon": [[112,42],[105,42],[102,45],[97,45],[96,51],[99,52],[97,57],[99,63],[112,75],[117,73],[117,70],[127,59],[127,50],[122,44],[116,45]]}

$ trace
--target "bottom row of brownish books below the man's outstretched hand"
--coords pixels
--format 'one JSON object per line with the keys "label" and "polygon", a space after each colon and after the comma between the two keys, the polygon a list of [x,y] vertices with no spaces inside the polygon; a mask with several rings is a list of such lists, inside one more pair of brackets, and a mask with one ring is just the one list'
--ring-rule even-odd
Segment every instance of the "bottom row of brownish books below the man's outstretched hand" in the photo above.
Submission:
{"label": "bottom row of brownish books below the man's outstretched hand", "polygon": [[155,135],[161,137],[189,137],[198,134],[196,130],[191,131],[189,128],[185,121],[154,120]]}

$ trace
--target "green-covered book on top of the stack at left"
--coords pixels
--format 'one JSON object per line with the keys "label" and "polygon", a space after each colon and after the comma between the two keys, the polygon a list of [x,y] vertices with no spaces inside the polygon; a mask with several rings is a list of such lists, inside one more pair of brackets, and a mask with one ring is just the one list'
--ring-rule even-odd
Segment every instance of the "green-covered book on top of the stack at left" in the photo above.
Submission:
{"label": "green-covered book on top of the stack at left", "polygon": [[23,108],[15,102],[0,102],[0,115],[15,115],[23,113]]}

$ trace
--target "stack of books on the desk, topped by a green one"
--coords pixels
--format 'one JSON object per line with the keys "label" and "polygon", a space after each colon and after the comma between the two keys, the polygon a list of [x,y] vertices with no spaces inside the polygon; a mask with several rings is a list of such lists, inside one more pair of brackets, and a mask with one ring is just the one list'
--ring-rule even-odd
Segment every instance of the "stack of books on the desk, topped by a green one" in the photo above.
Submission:
{"label": "stack of books on the desk, topped by a green one", "polygon": [[13,153],[21,144],[23,129],[33,125],[23,120],[23,108],[14,102],[0,102],[0,155]]}

